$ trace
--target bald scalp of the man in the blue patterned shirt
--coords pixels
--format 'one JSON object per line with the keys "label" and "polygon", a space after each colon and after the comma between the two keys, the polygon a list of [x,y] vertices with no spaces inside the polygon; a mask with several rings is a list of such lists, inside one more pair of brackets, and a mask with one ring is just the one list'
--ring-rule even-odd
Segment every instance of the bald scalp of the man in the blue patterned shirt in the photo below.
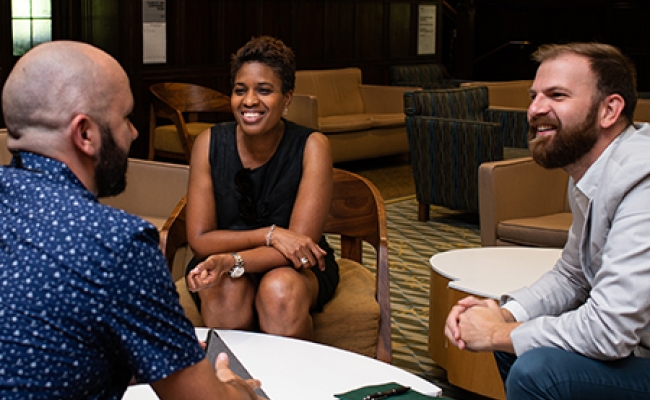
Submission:
{"label": "bald scalp of the man in the blue patterned shirt", "polygon": [[60,132],[79,114],[101,121],[128,78],[119,63],[85,43],[55,41],[36,46],[13,68],[2,92],[13,139]]}

